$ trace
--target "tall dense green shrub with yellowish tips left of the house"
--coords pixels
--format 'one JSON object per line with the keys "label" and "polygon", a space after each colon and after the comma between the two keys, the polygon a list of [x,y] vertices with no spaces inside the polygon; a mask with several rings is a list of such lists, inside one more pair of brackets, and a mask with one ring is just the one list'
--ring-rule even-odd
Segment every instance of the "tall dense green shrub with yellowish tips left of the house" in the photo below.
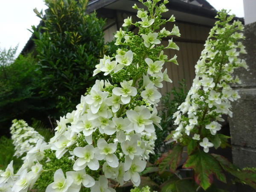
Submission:
{"label": "tall dense green shrub with yellowish tips left of the house", "polygon": [[105,21],[96,13],[85,13],[87,0],[45,0],[49,9],[46,16],[37,11],[44,26],[36,29],[34,42],[40,60],[42,89],[58,102],[64,114],[73,111],[87,87],[96,79],[92,77],[99,58],[108,52],[102,32]]}

